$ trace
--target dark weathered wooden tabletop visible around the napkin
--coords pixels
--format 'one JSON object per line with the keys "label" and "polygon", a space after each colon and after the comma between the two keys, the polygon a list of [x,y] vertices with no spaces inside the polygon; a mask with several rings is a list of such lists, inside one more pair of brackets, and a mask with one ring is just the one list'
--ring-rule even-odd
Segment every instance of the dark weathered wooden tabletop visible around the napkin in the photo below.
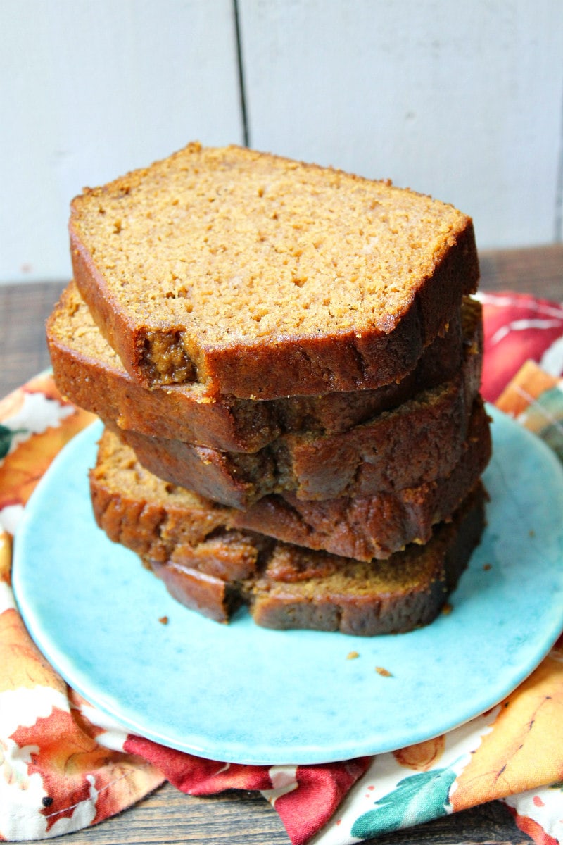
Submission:
{"label": "dark weathered wooden tabletop visible around the napkin", "polygon": [[[484,291],[530,292],[556,302],[563,300],[563,244],[485,252],[480,259]],[[43,325],[63,286],[57,282],[0,286],[0,396],[49,365]],[[256,794],[230,792],[212,798],[192,798],[167,784],[132,810],[85,831],[68,834],[61,841],[64,845],[287,845],[289,838],[275,810]],[[373,842],[517,845],[532,840],[517,830],[501,804],[493,803]]]}

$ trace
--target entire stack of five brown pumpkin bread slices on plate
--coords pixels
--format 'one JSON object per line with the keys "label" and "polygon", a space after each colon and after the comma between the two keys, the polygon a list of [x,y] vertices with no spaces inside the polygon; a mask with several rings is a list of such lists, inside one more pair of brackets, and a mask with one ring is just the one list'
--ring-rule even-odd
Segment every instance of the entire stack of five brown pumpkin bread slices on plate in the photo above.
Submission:
{"label": "entire stack of five brown pumpkin bread slices on plate", "polygon": [[105,423],[107,535],[218,621],[241,604],[280,629],[435,619],[485,521],[470,218],[190,144],[85,188],[70,236],[47,338],[59,389]]}

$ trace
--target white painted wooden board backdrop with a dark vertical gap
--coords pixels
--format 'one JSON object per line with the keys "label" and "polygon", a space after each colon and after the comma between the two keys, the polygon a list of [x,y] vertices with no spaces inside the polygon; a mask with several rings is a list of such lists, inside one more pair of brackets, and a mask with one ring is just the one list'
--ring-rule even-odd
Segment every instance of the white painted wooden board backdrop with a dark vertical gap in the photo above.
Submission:
{"label": "white painted wooden board backdrop with a dark vertical gap", "polygon": [[0,282],[66,279],[73,195],[193,139],[554,243],[562,124],[563,0],[0,0]]}

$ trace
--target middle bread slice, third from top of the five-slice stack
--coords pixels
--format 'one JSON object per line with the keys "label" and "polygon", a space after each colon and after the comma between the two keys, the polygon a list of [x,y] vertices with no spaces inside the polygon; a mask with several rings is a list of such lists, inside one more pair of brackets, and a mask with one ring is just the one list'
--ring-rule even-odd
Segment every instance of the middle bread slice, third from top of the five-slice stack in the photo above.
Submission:
{"label": "middle bread slice, third from top of the five-slice stack", "polygon": [[463,368],[446,384],[344,433],[286,434],[252,455],[134,431],[121,436],[154,475],[235,508],[271,493],[293,492],[304,500],[388,493],[452,472],[479,392],[481,360],[472,344]]}

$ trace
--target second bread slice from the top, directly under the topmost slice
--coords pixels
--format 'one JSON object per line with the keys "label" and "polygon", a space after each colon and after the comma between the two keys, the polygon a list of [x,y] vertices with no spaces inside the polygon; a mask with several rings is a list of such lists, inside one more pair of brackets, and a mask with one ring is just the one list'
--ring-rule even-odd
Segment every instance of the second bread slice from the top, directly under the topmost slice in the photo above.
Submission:
{"label": "second bread slice from the top, directly under the topmost slice", "polygon": [[451,379],[463,350],[482,349],[481,308],[463,303],[459,315],[427,346],[419,366],[398,384],[272,401],[218,396],[208,401],[202,385],[146,390],[131,379],[71,284],[46,325],[51,363],[59,390],[76,405],[115,421],[122,429],[235,452],[256,452],[283,433],[306,430],[338,434],[377,413],[397,407],[420,390]]}

